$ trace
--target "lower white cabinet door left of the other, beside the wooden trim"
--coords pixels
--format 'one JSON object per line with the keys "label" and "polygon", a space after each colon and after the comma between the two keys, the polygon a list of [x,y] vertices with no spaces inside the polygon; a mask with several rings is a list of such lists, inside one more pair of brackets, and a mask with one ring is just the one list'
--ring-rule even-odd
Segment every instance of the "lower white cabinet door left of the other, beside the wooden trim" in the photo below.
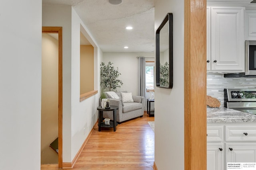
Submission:
{"label": "lower white cabinet door left of the other, beside the wooden trim", "polygon": [[207,170],[224,170],[223,143],[207,143]]}

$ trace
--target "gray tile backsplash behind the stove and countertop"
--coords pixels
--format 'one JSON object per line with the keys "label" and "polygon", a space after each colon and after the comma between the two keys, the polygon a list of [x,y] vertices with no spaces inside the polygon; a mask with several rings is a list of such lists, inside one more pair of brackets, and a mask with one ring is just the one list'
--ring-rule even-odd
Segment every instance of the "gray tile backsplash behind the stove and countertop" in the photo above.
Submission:
{"label": "gray tile backsplash behind the stove and countertop", "polygon": [[207,73],[207,95],[217,98],[222,107],[224,88],[256,88],[256,78],[224,78],[223,74]]}

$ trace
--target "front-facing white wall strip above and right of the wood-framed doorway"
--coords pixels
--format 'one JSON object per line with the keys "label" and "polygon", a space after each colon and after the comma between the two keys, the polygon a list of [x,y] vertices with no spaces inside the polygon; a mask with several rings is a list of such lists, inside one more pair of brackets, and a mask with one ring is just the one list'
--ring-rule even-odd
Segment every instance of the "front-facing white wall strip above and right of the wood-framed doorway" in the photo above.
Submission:
{"label": "front-facing white wall strip above and right of the wood-framed doorway", "polygon": [[42,6],[42,26],[62,27],[63,162],[71,162],[71,6]]}

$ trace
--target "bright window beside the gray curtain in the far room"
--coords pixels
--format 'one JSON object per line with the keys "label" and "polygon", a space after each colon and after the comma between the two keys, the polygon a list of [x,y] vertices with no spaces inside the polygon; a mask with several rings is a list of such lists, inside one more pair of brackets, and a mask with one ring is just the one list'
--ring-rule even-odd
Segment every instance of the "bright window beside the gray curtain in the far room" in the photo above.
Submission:
{"label": "bright window beside the gray curtain in the far room", "polygon": [[146,61],[146,90],[154,90],[154,61]]}

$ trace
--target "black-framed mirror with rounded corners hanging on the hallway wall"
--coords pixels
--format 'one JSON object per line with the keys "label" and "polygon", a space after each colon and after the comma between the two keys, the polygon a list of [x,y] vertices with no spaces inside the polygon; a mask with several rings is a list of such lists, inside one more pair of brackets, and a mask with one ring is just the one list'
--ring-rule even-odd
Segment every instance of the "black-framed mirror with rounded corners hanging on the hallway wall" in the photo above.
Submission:
{"label": "black-framed mirror with rounded corners hanging on the hallway wall", "polygon": [[173,19],[167,13],[156,30],[156,86],[173,86]]}

